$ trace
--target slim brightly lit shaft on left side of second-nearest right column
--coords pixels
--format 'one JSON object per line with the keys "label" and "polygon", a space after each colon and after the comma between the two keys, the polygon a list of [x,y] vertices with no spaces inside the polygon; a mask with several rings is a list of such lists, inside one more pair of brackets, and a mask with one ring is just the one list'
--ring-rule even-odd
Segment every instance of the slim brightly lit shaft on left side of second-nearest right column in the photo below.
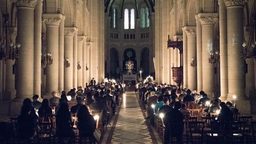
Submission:
{"label": "slim brightly lit shaft on left side of second-nearest right column", "polygon": [[197,91],[201,91],[203,89],[203,78],[202,78],[202,45],[201,45],[201,23],[199,21],[198,15],[196,15],[196,40],[197,40],[197,57],[196,57],[196,63],[197,63]]}

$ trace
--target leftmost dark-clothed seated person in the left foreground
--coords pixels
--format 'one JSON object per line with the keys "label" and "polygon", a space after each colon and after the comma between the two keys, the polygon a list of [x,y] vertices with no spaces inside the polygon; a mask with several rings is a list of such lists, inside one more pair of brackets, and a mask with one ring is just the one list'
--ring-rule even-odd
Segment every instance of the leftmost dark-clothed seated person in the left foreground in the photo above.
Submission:
{"label": "leftmost dark-clothed seated person in the left foreground", "polygon": [[30,114],[30,105],[23,105],[21,107],[21,114],[18,116],[18,135],[23,139],[33,139],[36,129],[36,119]]}

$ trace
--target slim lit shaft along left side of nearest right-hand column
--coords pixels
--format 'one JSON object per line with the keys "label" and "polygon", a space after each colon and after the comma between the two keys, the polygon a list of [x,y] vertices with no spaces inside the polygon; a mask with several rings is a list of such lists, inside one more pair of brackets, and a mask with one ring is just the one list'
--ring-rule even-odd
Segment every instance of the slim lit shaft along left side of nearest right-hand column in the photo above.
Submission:
{"label": "slim lit shaft along left side of nearest right-hand column", "polygon": [[220,28],[220,100],[225,101],[228,96],[228,49],[226,6],[219,0],[219,28]]}

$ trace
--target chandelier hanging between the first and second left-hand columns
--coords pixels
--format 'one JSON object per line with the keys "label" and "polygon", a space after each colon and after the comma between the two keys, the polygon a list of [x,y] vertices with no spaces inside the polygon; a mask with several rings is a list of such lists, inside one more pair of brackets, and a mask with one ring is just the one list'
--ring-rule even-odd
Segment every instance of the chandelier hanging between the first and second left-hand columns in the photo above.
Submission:
{"label": "chandelier hanging between the first and second left-hand columns", "polygon": [[41,34],[42,39],[42,48],[43,48],[43,55],[41,55],[41,66],[42,68],[46,68],[47,65],[52,65],[53,59],[52,59],[52,53],[47,53],[46,50],[46,38],[45,34]]}

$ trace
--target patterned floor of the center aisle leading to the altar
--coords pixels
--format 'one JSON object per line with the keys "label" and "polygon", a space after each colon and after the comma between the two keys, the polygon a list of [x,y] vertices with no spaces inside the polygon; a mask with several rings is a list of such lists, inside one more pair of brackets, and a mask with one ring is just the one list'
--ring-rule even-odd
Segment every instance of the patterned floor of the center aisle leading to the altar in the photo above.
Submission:
{"label": "patterned floor of the center aisle leading to the altar", "polygon": [[123,94],[111,143],[153,143],[135,92]]}

